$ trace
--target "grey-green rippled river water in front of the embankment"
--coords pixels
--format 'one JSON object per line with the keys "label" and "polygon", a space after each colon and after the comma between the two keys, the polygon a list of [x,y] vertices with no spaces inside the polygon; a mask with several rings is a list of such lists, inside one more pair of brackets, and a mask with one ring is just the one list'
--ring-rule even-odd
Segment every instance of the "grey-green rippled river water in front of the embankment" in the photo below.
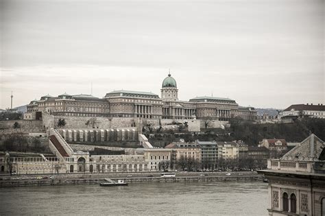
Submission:
{"label": "grey-green rippled river water in front of the embankment", "polygon": [[0,189],[0,215],[268,215],[263,182]]}

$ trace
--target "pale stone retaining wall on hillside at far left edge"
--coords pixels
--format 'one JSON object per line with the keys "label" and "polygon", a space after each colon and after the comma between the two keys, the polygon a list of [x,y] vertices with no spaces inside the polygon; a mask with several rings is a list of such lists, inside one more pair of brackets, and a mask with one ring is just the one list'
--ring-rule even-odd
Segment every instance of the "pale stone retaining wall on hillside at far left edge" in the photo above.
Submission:
{"label": "pale stone retaining wall on hillside at far left edge", "polygon": [[[14,129],[14,123],[17,122],[19,128]],[[0,134],[28,134],[31,132],[44,132],[42,121],[36,120],[8,120],[0,121]]]}

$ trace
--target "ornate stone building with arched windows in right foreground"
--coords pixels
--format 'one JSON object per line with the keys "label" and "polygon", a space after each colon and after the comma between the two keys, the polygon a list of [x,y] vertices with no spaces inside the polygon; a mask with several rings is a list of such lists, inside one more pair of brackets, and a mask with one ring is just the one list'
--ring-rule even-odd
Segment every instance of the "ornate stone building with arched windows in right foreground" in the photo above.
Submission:
{"label": "ornate stone building with arched windows in right foreground", "polygon": [[269,215],[325,215],[325,143],[314,134],[258,171],[269,180]]}

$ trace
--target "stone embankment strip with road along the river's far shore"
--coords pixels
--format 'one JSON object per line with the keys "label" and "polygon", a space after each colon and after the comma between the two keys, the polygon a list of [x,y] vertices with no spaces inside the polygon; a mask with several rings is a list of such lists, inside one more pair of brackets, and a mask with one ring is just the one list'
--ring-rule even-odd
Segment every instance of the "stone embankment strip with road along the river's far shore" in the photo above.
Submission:
{"label": "stone embankment strip with road along the river's far shore", "polygon": [[[205,175],[205,176],[203,176]],[[75,173],[53,175],[0,176],[0,187],[26,187],[74,184],[99,184],[105,178],[124,180],[127,183],[139,182],[248,182],[262,181],[263,176],[256,172],[178,172],[175,178],[161,178],[160,173]]]}

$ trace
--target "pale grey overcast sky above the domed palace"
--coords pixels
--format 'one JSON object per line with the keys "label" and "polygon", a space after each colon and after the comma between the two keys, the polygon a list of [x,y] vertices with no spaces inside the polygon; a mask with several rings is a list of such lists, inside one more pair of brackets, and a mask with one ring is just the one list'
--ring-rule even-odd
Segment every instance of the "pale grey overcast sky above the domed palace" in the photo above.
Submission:
{"label": "pale grey overcast sky above the domed palace", "polygon": [[0,108],[91,82],[160,96],[169,69],[180,100],[325,104],[324,1],[0,2]]}

